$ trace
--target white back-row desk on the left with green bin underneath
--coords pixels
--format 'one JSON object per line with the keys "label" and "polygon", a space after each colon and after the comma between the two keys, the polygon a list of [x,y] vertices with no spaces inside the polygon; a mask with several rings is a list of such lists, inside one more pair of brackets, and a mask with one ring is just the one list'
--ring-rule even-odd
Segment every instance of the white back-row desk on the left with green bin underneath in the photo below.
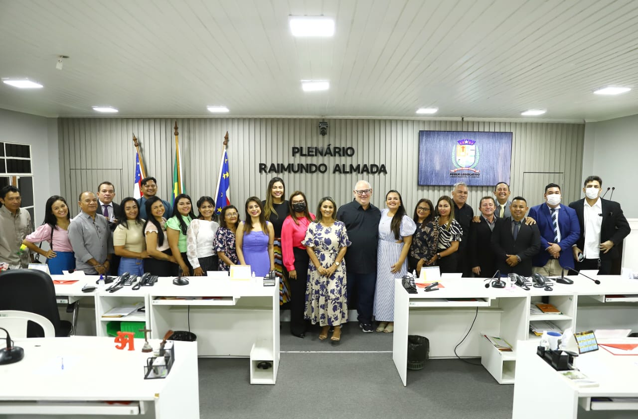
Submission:
{"label": "white back-row desk on the left with green bin underneath", "polygon": [[[69,279],[54,276],[54,279]],[[74,278],[75,279],[75,278]],[[159,278],[152,287],[133,290],[124,287],[110,293],[100,287],[82,293],[86,283],[94,285],[95,276],[78,278],[70,285],[56,285],[57,295],[93,298],[96,333],[107,336],[110,321],[145,322],[151,337],[161,338],[167,330],[191,330],[197,335],[200,357],[248,357],[251,383],[274,384],[279,367],[279,287],[263,287],[262,278],[219,280],[203,276],[189,277],[189,285],[178,286],[171,278]],[[214,297],[199,299],[199,297]],[[145,313],[124,318],[103,318],[109,309],[144,302]],[[190,327],[189,327],[190,325]],[[270,369],[258,369],[267,361]]]}

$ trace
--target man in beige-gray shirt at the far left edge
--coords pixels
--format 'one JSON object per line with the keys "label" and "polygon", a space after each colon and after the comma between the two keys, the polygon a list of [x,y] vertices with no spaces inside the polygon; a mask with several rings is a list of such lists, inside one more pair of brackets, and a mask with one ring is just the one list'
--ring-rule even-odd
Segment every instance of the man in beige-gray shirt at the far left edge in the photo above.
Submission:
{"label": "man in beige-gray shirt at the far left edge", "polygon": [[22,240],[33,232],[31,215],[20,208],[22,196],[15,186],[0,189],[0,262],[9,264],[10,269],[29,266],[29,250],[20,252]]}

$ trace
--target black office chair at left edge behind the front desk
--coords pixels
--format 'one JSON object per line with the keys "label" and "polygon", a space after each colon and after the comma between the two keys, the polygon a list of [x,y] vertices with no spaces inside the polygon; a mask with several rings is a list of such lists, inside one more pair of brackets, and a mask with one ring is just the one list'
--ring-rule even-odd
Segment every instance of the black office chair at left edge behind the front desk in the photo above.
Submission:
{"label": "black office chair at left edge behind the front desk", "polygon": [[[0,274],[0,310],[31,311],[53,323],[56,336],[69,336],[71,322],[60,320],[56,288],[51,277],[36,269],[10,269]],[[29,322],[27,337],[43,337],[42,328]]]}

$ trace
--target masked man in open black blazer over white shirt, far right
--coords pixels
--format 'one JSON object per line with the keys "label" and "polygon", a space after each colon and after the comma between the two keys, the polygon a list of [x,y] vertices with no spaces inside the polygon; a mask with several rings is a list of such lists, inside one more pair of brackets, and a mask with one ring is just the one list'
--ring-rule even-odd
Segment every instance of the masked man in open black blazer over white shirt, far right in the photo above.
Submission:
{"label": "masked man in open black blazer over white shirt, far right", "polygon": [[584,181],[582,192],[585,197],[569,204],[575,209],[581,234],[573,246],[574,259],[582,253],[584,259],[575,268],[598,269],[599,275],[611,274],[612,260],[618,259],[618,248],[631,232],[627,218],[620,204],[600,197],[602,179],[589,176]]}

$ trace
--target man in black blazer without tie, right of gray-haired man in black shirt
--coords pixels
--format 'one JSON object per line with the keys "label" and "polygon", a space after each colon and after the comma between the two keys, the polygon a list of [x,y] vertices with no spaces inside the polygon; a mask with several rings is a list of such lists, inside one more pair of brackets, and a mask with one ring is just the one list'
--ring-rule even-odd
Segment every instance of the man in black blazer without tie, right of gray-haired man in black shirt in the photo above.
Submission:
{"label": "man in black blazer without tie, right of gray-haired man in black shirt", "polygon": [[491,245],[492,231],[496,225],[495,208],[493,197],[482,197],[479,202],[480,221],[470,225],[470,260],[472,272],[477,278],[487,278],[496,272],[496,260]]}

